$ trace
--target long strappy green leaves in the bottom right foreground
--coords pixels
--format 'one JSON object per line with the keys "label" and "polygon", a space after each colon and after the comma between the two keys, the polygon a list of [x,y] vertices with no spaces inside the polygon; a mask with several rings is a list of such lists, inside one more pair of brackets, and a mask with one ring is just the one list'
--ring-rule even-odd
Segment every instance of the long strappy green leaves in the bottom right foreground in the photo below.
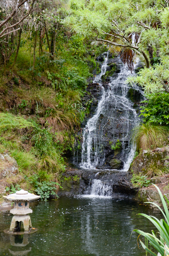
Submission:
{"label": "long strappy green leaves in the bottom right foreground", "polygon": [[[167,256],[169,255],[169,210],[167,208],[167,204],[169,204],[169,201],[165,197],[165,200],[167,201],[167,204],[166,204],[166,201],[164,200],[163,195],[160,192],[160,189],[158,188],[158,186],[156,185],[154,186],[158,189],[158,193],[160,195],[164,211],[155,203],[146,202],[146,204],[154,204],[156,207],[158,207],[158,209],[160,209],[160,212],[163,214],[164,218],[158,220],[158,218],[154,216],[149,216],[143,213],[140,213],[140,215],[142,215],[143,217],[151,221],[152,224],[154,224],[154,226],[158,230],[158,233],[155,233],[153,230],[152,230],[152,234],[146,233],[137,229],[133,231],[139,234],[138,238],[140,237],[140,235],[145,237],[146,243],[144,244],[143,241],[141,241],[141,239],[140,239],[140,243],[143,249],[146,250],[146,255],[147,253],[150,253],[150,255],[152,256],[157,256],[156,253],[152,252],[151,247],[154,247],[158,251],[158,256]],[[150,248],[148,247],[148,242],[151,246]]]}

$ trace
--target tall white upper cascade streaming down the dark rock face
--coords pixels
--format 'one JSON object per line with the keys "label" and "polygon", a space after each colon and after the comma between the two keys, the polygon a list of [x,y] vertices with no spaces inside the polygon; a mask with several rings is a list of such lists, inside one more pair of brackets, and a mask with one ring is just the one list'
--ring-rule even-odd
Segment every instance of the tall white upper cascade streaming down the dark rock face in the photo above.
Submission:
{"label": "tall white upper cascade streaming down the dark rock face", "polygon": [[[140,122],[134,103],[129,99],[131,87],[126,84],[127,77],[135,75],[135,73],[131,74],[128,67],[121,63],[120,58],[117,58],[117,61],[120,62],[118,65],[120,72],[112,76],[109,83],[105,85],[102,82],[102,77],[109,67],[109,53],[105,53],[104,57],[101,73],[93,81],[93,83],[99,84],[102,96],[98,101],[95,114],[83,129],[80,167],[95,169],[97,166],[102,166],[111,154],[111,145],[115,145],[119,139],[122,143],[120,160],[123,161],[123,170],[127,171],[135,154],[135,147],[130,138],[131,130]],[[143,95],[137,85],[134,85],[133,89]]]}

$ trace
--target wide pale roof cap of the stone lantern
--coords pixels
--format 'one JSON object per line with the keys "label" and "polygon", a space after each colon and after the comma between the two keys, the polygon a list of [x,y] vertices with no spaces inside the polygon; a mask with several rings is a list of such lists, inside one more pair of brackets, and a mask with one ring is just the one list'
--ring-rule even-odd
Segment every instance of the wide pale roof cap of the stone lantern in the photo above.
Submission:
{"label": "wide pale roof cap of the stone lantern", "polygon": [[3,195],[3,197],[10,201],[31,201],[39,199],[40,195],[34,195],[32,193],[29,193],[28,191],[21,189],[20,191],[17,191],[14,194]]}

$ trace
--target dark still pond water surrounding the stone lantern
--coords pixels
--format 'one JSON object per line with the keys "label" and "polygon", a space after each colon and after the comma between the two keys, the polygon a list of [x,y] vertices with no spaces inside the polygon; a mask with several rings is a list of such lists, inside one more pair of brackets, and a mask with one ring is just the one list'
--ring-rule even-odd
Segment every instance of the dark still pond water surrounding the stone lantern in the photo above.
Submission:
{"label": "dark still pond water surrounding the stone lantern", "polygon": [[[25,247],[11,245],[3,230],[9,228],[12,215],[0,212],[0,256],[145,256],[137,247],[137,233],[129,241],[130,235],[135,228],[150,232],[154,227],[137,213],[161,218],[138,202],[106,197],[60,197],[33,203],[32,209],[32,226],[38,231]],[[18,239],[15,243],[21,243]]]}

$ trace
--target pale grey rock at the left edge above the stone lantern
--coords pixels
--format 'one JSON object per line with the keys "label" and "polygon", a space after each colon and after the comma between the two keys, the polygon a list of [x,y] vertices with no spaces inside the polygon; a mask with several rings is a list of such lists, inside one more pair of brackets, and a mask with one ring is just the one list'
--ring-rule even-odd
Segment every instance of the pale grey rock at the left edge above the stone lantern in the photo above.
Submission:
{"label": "pale grey rock at the left edge above the stone lantern", "polygon": [[17,161],[9,154],[0,154],[0,193],[4,192],[6,184],[3,179],[18,173]]}

